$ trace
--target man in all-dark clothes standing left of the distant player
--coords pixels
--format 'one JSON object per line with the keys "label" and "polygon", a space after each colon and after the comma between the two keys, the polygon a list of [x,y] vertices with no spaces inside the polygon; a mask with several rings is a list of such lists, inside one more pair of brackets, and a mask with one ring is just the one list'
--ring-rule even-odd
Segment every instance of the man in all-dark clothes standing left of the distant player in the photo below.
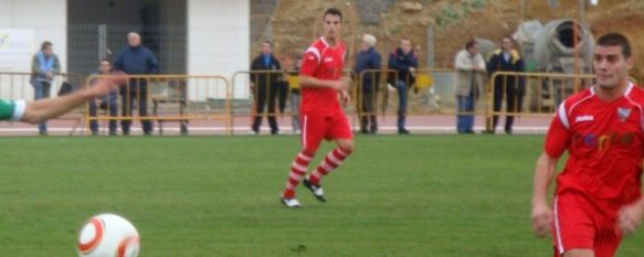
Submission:
{"label": "man in all-dark clothes standing left of the distant player", "polygon": [[[262,54],[253,60],[251,72],[282,71],[279,62],[272,53],[272,44],[268,41],[262,43]],[[260,126],[262,126],[262,116],[264,115],[264,107],[268,104],[268,126],[271,126],[271,133],[279,133],[277,128],[277,113],[275,111],[275,98],[279,86],[281,74],[278,73],[251,73],[251,92],[255,96],[255,118],[252,132],[260,133]]]}

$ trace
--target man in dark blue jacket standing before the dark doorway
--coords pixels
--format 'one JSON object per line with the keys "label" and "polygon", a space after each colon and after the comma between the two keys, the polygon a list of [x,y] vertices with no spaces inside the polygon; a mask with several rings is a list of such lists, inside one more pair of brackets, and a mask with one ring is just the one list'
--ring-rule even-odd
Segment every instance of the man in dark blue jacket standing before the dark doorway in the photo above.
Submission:
{"label": "man in dark blue jacket standing before the dark doorway", "polygon": [[[141,38],[138,33],[130,32],[127,35],[128,46],[125,47],[116,62],[114,68],[131,75],[158,74],[159,62],[155,54],[141,45]],[[128,89],[129,88],[129,89]],[[139,117],[148,117],[148,87],[146,79],[130,78],[128,87],[120,89],[123,96],[123,116],[131,117],[135,100],[138,104]],[[129,135],[131,120],[122,120],[123,135]],[[151,135],[152,121],[141,120],[145,135]]]}

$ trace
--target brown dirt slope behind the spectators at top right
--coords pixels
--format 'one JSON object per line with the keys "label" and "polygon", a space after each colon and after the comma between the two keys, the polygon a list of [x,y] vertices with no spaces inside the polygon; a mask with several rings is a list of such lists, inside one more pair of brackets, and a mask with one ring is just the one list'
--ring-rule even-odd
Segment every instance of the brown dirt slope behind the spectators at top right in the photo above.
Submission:
{"label": "brown dirt slope behind the spectators at top right", "polygon": [[[418,2],[421,10],[408,11],[403,2]],[[393,50],[402,36],[410,38],[426,66],[427,30],[434,33],[434,67],[452,67],[454,54],[473,38],[497,41],[513,34],[521,21],[553,19],[581,19],[577,1],[561,0],[551,8],[546,0],[529,0],[524,10],[520,0],[425,0],[395,1],[380,13],[380,24],[361,22],[353,0],[282,0],[273,15],[275,52],[292,55],[303,51],[321,33],[320,13],[328,7],[338,7],[345,13],[344,40],[350,47],[349,63],[358,51],[360,36],[372,33],[379,39],[378,49],[383,53]],[[636,56],[633,76],[644,81],[644,1],[600,0],[585,10],[588,25],[597,36],[605,32],[622,32],[633,43]],[[258,44],[254,44],[258,45]]]}

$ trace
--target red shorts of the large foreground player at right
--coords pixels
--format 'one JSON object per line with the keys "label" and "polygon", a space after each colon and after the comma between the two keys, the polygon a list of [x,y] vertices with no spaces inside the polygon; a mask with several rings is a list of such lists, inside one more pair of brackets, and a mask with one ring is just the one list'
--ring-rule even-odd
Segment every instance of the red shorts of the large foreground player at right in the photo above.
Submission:
{"label": "red shorts of the large foreground player at right", "polygon": [[595,257],[615,255],[622,240],[616,221],[600,212],[587,196],[576,192],[558,194],[552,205],[556,257],[570,249],[592,249]]}

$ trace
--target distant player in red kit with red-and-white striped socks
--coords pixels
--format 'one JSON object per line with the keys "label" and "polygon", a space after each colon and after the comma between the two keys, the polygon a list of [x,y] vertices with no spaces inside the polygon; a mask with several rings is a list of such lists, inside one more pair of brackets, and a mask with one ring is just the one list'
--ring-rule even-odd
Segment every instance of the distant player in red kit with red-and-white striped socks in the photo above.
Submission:
{"label": "distant player in red kit with red-and-white striped socks", "polygon": [[[340,103],[347,105],[348,84],[341,78],[346,47],[342,35],[342,13],[335,8],[323,15],[325,35],[315,41],[304,54],[299,71],[302,86],[302,150],[291,165],[286,189],[281,202],[287,207],[299,207],[295,188],[299,182],[320,202],[326,202],[320,180],[338,168],[353,151],[353,133]],[[339,100],[338,100],[339,98]],[[308,178],[304,178],[323,139],[334,140],[336,149],[329,152]]]}

